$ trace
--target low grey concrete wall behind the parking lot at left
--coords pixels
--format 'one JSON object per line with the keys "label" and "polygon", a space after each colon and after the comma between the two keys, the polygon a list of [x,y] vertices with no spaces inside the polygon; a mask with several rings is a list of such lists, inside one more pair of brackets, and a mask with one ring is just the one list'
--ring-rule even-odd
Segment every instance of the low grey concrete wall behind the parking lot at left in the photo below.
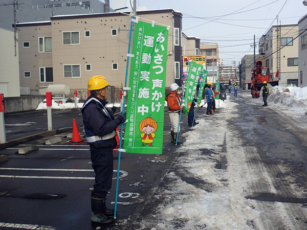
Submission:
{"label": "low grey concrete wall behind the parking lot at left", "polygon": [[5,98],[5,113],[34,110],[45,98],[45,95]]}

